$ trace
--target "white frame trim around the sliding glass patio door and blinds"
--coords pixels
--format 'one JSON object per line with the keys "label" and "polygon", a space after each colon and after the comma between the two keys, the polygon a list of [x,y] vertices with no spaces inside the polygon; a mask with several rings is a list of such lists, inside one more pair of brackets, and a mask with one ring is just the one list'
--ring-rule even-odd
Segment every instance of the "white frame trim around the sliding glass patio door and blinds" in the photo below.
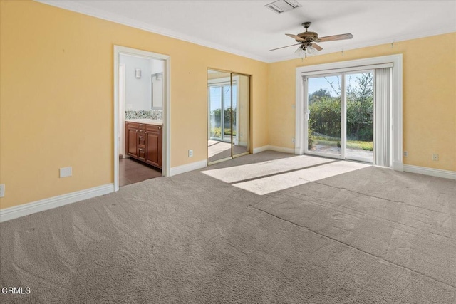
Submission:
{"label": "white frame trim around the sliding glass patio door and blinds", "polygon": [[[392,114],[391,137],[393,151],[393,169],[404,171],[403,165],[403,60],[402,54],[381,56],[374,58],[358,59],[353,61],[341,61],[321,65],[308,65],[296,68],[296,144],[295,154],[304,154],[307,145],[307,127],[304,115],[306,98],[306,85],[303,82],[303,73],[330,73],[337,71],[352,70],[353,68],[371,69],[378,65],[393,65],[391,79]],[[305,132],[304,132],[305,130]]]}

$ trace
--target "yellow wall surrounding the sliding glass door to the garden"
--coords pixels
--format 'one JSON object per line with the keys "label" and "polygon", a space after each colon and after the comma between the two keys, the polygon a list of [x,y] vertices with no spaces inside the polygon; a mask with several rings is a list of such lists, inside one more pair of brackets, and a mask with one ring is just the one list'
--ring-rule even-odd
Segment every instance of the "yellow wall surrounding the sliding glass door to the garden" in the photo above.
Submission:
{"label": "yellow wall surrounding the sliding glass door to the garden", "polygon": [[[324,44],[321,43],[324,48]],[[456,33],[269,64],[269,145],[294,148],[296,67],[403,54],[404,164],[456,171]],[[439,161],[432,161],[432,154]]]}

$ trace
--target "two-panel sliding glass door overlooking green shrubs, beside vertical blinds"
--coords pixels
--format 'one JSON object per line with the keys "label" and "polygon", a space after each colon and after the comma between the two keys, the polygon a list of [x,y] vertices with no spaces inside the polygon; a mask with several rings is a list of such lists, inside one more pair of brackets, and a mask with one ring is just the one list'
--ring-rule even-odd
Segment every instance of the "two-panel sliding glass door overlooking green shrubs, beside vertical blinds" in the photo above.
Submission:
{"label": "two-panel sliding glass door overlooking green shrubs, beside vertical blinds", "polygon": [[373,70],[304,77],[307,154],[373,162]]}

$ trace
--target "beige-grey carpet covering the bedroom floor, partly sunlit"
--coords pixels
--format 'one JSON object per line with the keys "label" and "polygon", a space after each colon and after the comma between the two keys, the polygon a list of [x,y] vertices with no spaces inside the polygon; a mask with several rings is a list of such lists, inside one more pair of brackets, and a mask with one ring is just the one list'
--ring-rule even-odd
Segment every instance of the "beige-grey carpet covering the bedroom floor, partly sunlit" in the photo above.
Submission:
{"label": "beige-grey carpet covering the bedroom floor, partly sunlit", "polygon": [[0,302],[455,303],[456,181],[353,164],[262,152],[6,221],[1,288],[31,293]]}

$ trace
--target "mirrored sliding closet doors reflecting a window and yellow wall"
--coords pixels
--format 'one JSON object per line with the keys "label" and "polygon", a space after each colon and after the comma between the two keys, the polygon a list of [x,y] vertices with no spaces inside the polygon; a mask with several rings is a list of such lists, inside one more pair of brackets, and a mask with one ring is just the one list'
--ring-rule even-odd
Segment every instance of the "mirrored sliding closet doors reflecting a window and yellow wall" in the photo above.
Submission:
{"label": "mirrored sliding closet doors reflecting a window and yellow wall", "polygon": [[250,76],[207,70],[208,164],[249,154]]}

